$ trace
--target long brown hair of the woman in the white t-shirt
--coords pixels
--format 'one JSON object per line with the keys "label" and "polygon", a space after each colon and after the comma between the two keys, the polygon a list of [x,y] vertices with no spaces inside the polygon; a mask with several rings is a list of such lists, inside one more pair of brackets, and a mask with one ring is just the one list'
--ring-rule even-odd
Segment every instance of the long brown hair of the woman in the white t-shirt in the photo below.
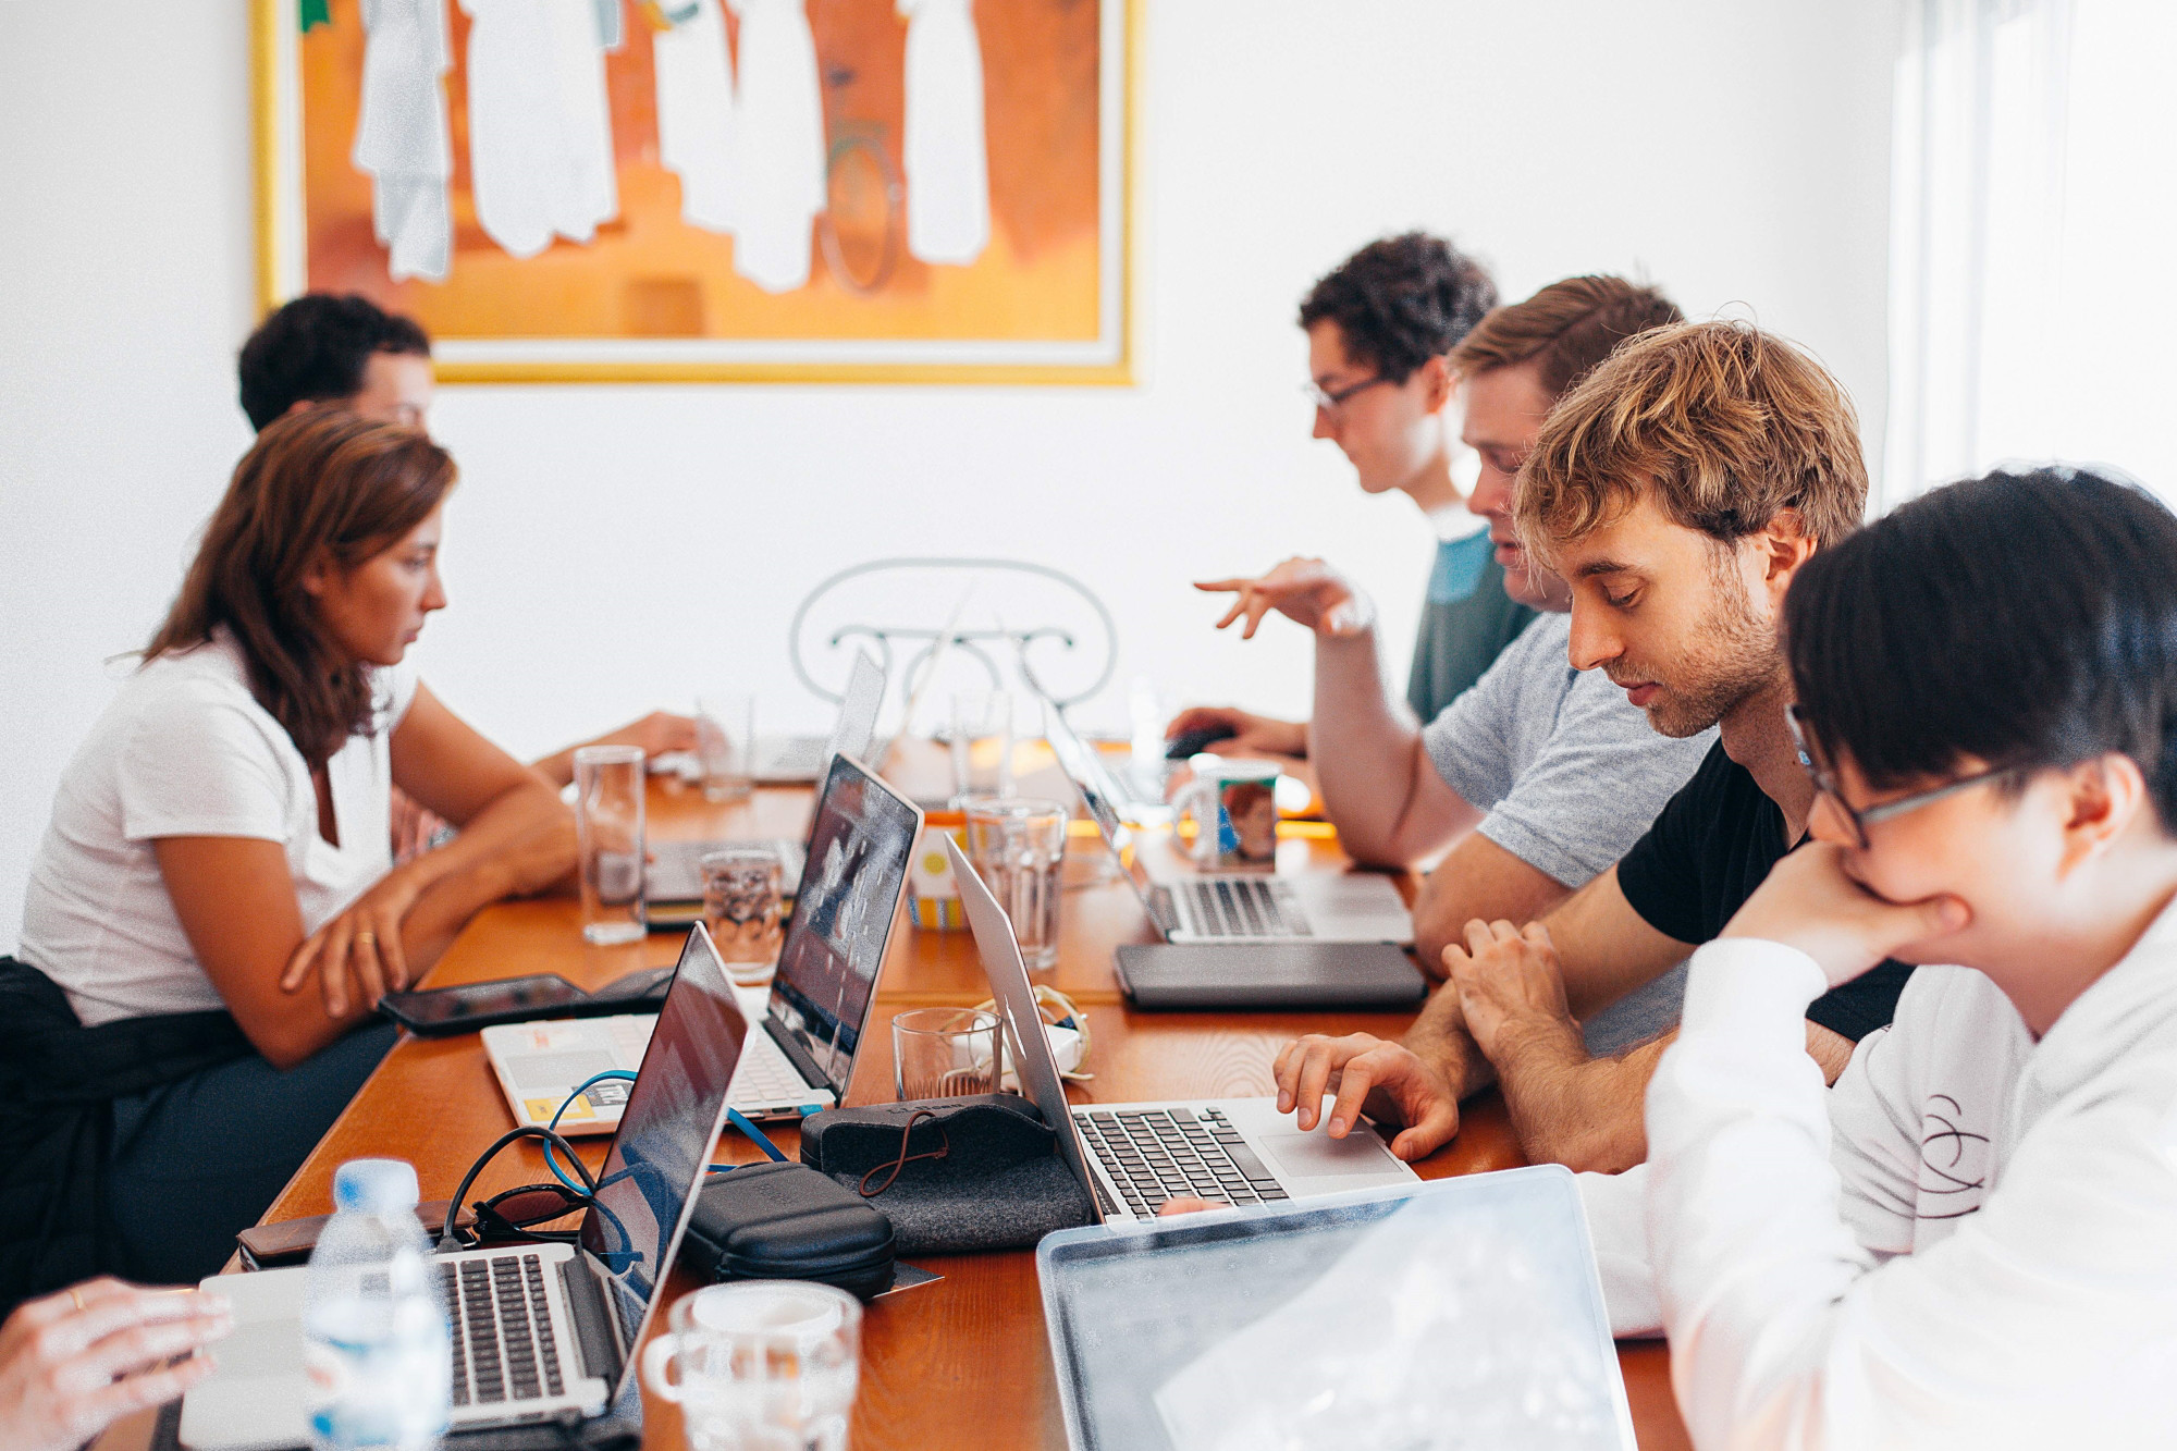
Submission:
{"label": "long brown hair of the woman in the white t-shirt", "polygon": [[274,420],[235,466],[165,623],[155,660],[224,625],[257,697],[311,767],[370,728],[370,675],[333,643],[303,575],[355,569],[394,547],[453,488],[453,458],[416,429],[333,407]]}

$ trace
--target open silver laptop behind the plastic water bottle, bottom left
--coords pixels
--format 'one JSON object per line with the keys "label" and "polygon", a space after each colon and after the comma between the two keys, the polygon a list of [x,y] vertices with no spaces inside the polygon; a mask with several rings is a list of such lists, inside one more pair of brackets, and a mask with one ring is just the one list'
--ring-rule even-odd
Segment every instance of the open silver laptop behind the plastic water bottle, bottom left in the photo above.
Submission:
{"label": "open silver laptop behind the plastic water bottle, bottom left", "polygon": [[[679,1253],[725,1126],[749,1022],[710,935],[681,948],[673,991],[596,1176],[579,1244],[438,1255],[453,1327],[453,1429],[596,1416],[636,1379],[636,1346]],[[181,1444],[257,1451],[309,1442],[303,1296],[309,1268],[216,1275],[235,1307],[218,1370],[181,1405]]]}

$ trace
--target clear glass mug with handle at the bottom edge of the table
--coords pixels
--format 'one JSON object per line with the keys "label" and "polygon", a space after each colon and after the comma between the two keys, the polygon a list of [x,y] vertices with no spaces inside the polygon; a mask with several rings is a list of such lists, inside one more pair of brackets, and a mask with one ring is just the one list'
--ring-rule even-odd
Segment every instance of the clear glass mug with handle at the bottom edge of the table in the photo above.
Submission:
{"label": "clear glass mug with handle at the bottom edge of the table", "polygon": [[673,1301],[642,1381],[679,1405],[688,1451],[847,1451],[860,1342],[862,1307],[845,1290],[708,1285]]}

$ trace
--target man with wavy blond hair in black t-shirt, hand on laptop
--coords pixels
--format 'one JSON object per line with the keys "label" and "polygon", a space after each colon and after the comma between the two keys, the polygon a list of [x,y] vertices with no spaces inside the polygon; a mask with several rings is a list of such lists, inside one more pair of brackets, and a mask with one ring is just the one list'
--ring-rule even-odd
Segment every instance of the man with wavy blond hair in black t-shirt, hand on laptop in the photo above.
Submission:
{"label": "man with wavy blond hair in black t-shirt, hand on laptop", "polygon": [[[1570,662],[1600,669],[1665,736],[1720,739],[1626,856],[1541,922],[1467,922],[1450,983],[1402,1044],[1311,1035],[1278,1059],[1280,1107],[1330,1133],[1402,1120],[1417,1159],[1496,1078],[1530,1159],[1620,1170],[1646,1157],[1641,1098],[1670,1037],[1591,1059],[1576,1017],[1670,972],[1807,830],[1776,638],[1792,577],[1859,527],[1868,475],[1850,399],[1796,346],[1744,322],[1635,338],[1559,401],[1520,471],[1520,538],[1572,588]],[[1607,789],[1607,782],[1596,782]],[[1835,1081],[1890,1022],[1885,963],[1807,1011]]]}

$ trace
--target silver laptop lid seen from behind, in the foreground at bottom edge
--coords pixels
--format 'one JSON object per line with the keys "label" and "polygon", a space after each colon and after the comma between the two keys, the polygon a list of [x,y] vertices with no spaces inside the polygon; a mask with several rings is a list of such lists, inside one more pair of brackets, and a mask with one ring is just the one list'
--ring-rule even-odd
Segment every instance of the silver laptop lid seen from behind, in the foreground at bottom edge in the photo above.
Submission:
{"label": "silver laptop lid seen from behind, in the foreground at bottom edge", "polygon": [[1633,1451],[1574,1176],[1550,1163],[1036,1246],[1073,1451]]}

